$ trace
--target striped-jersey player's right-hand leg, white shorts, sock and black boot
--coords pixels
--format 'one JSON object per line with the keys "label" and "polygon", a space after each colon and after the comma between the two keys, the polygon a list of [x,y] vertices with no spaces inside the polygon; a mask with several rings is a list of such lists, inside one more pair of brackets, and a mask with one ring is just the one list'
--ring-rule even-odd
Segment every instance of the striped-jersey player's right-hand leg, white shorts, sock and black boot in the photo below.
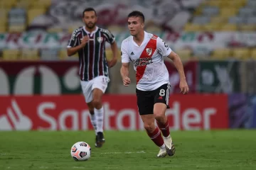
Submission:
{"label": "striped-jersey player's right-hand leg, white shorts, sock and black boot", "polygon": [[92,102],[95,107],[95,115],[97,119],[97,143],[98,147],[102,147],[102,144],[105,142],[103,135],[103,118],[104,118],[104,109],[102,106],[102,96],[105,94],[107,89],[107,84],[110,81],[108,77],[96,77],[92,84]]}

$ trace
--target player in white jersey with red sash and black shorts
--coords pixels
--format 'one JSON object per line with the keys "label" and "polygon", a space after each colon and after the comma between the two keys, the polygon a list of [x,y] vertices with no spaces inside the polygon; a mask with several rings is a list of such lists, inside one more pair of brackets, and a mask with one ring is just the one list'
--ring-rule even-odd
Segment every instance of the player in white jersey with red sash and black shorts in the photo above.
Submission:
{"label": "player in white jersey with red sash and black shorts", "polygon": [[[164,57],[174,62],[180,76],[182,94],[188,93],[188,84],[180,57],[166,45],[164,40],[144,31],[144,15],[132,11],[128,15],[131,36],[122,41],[121,75],[124,86],[129,86],[129,62],[133,62],[137,78],[137,105],[144,128],[151,140],[160,148],[156,157],[175,154],[165,112],[169,104],[169,73]],[[158,127],[154,124],[154,120]],[[163,137],[161,136],[163,135]]]}

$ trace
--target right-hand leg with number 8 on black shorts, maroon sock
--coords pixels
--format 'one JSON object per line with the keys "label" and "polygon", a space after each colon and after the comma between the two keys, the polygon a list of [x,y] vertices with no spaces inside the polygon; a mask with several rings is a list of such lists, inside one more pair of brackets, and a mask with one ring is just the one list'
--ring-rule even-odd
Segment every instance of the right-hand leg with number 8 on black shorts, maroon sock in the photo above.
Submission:
{"label": "right-hand leg with number 8 on black shorts, maroon sock", "polygon": [[167,147],[167,152],[169,156],[175,154],[174,143],[169,130],[168,119],[166,118],[166,108],[169,103],[169,84],[164,84],[163,86],[156,89],[154,96],[154,116],[156,118],[156,123],[159,126],[162,135],[164,136],[164,143]]}

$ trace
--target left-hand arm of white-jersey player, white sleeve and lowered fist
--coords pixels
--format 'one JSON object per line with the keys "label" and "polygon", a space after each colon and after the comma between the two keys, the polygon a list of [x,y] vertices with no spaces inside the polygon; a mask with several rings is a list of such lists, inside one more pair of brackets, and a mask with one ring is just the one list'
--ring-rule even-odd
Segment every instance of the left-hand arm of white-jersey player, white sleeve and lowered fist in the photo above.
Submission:
{"label": "left-hand arm of white-jersey player, white sleeve and lowered fist", "polygon": [[122,76],[122,81],[124,86],[129,86],[131,83],[131,79],[129,79],[129,55],[127,53],[124,42],[121,45],[121,58],[122,58],[122,67],[120,69],[120,73]]}

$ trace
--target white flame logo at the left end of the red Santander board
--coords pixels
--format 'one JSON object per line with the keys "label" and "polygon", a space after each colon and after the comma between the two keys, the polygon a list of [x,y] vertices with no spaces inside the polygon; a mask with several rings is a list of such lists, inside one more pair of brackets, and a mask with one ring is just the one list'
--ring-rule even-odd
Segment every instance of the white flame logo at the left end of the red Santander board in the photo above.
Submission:
{"label": "white flame logo at the left end of the red Santander board", "polygon": [[0,130],[31,130],[32,121],[24,115],[15,100],[7,107],[6,113],[0,116]]}

